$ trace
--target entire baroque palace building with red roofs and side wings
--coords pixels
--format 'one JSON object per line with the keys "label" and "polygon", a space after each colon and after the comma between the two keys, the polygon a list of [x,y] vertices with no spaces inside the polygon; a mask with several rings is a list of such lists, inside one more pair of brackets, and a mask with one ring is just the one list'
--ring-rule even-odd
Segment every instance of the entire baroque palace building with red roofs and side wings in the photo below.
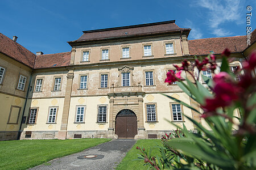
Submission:
{"label": "entire baroque palace building with red roofs and side wings", "polygon": [[175,20],[83,31],[68,42],[71,52],[36,55],[0,33],[0,140],[160,138],[176,130],[168,121],[195,130],[183,114],[206,125],[162,95],[200,109],[177,84],[164,83],[167,71],[210,52],[221,61],[225,48],[230,69],[241,67],[255,31],[248,47],[246,36],[188,40],[190,31]]}

